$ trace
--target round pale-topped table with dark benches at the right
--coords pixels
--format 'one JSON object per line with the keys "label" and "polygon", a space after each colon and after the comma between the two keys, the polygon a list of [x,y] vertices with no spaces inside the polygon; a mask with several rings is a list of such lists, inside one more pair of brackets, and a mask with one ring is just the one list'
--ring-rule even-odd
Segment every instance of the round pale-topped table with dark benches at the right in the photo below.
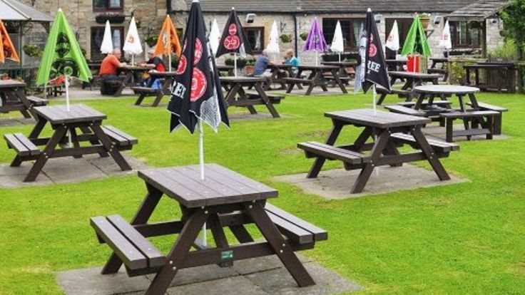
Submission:
{"label": "round pale-topped table with dark benches at the right", "polygon": [[[446,120],[447,142],[452,142],[453,138],[458,136],[466,136],[467,140],[470,140],[472,135],[486,135],[486,139],[492,139],[494,129],[496,133],[501,133],[501,111],[490,108],[481,109],[475,95],[479,92],[479,88],[459,85],[427,85],[415,87],[414,92],[417,93],[414,110],[423,110],[424,115],[435,115],[437,112],[440,118]],[[436,96],[443,100],[447,100],[448,96],[457,97],[459,110],[435,105],[434,97]],[[469,105],[472,109],[467,109],[465,96],[469,97]],[[426,98],[428,98],[427,102],[424,101]],[[463,120],[464,130],[453,130],[453,123],[456,119]]]}

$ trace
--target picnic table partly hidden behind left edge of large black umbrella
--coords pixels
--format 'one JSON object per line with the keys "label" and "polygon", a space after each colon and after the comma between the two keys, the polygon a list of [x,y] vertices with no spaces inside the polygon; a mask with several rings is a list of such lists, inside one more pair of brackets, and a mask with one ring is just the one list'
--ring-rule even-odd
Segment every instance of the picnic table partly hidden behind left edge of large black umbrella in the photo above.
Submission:
{"label": "picnic table partly hidden behind left edge of large black umbrella", "polygon": [[[155,96],[155,100],[153,100],[153,103],[151,104],[152,107],[156,107],[160,100],[164,97],[164,95],[170,95],[171,93],[171,86],[173,84],[173,81],[175,80],[175,76],[177,76],[176,72],[158,72],[158,71],[150,71],[150,79],[148,81],[148,84],[146,87],[132,87],[133,91],[135,93],[138,93],[138,98],[135,102],[135,105],[141,105],[144,98],[147,96]],[[160,79],[162,83],[162,87],[160,89],[153,89],[151,88],[153,86],[153,83],[156,79]]]}

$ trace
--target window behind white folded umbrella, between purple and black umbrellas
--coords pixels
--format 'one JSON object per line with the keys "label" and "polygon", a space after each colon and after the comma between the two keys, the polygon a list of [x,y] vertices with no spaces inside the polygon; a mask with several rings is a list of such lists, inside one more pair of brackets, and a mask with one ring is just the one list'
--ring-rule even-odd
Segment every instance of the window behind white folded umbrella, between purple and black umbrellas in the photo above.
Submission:
{"label": "window behind white folded umbrella, between purple and black umbrellas", "polygon": [[345,50],[357,50],[359,35],[365,23],[365,19],[322,19],[322,34],[327,44],[332,43],[337,21],[341,22],[342,40]]}

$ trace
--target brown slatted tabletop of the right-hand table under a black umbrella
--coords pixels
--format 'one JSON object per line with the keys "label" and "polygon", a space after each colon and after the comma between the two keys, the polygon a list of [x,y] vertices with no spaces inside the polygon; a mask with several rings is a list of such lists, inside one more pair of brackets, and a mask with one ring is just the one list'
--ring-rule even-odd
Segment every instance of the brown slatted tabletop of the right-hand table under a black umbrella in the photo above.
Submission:
{"label": "brown slatted tabletop of the right-hand table under a black umbrella", "polygon": [[377,128],[393,128],[430,123],[430,119],[428,118],[388,113],[382,110],[377,110],[377,114],[374,115],[374,110],[368,108],[329,112],[325,113],[325,116],[336,120],[342,120],[347,123],[357,123]]}

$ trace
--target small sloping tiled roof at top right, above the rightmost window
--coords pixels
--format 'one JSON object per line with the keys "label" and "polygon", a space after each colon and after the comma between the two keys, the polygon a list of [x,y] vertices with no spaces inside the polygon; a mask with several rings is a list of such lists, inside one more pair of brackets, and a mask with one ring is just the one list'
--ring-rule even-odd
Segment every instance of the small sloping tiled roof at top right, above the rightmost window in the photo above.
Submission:
{"label": "small sloping tiled roof at top right, above the rightmost window", "polygon": [[450,21],[483,21],[510,5],[510,1],[481,0],[452,12]]}

